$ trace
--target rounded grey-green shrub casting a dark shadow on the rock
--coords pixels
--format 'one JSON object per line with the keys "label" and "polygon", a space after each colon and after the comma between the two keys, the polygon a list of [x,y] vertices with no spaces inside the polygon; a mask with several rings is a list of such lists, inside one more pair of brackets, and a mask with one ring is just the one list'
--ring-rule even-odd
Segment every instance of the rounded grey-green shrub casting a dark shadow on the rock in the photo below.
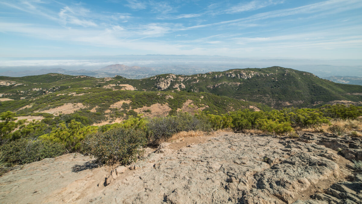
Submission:
{"label": "rounded grey-green shrub casting a dark shadow on the rock", "polygon": [[146,133],[133,128],[114,128],[97,132],[83,141],[83,152],[105,164],[129,164],[142,154]]}

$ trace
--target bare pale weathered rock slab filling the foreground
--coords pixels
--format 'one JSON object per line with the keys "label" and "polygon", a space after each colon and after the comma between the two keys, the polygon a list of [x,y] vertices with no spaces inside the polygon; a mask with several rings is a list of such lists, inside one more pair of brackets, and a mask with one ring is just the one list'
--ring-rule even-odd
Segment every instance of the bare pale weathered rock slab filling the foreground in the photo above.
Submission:
{"label": "bare pale weathered rock slab filling the foreground", "polygon": [[0,203],[362,203],[350,162],[362,159],[361,140],[222,132],[117,168],[67,154],[1,176]]}

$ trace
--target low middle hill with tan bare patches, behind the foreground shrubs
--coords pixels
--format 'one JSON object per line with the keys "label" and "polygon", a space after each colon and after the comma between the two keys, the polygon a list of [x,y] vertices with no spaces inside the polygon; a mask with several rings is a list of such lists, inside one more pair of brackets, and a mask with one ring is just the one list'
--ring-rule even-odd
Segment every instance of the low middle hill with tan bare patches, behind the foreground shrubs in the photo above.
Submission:
{"label": "low middle hill with tan bare patches, behind the foreground shrubs", "polygon": [[[119,101],[125,101],[125,104],[119,103]],[[187,101],[189,104],[186,103]],[[81,105],[78,107],[77,104]],[[153,107],[152,105],[156,106]],[[270,107],[260,103],[240,101],[210,93],[130,91],[100,87],[91,89],[69,88],[39,95],[32,99],[0,102],[0,113],[10,110],[24,116],[43,116],[45,118],[56,116],[57,120],[65,121],[76,117],[88,125],[104,121],[113,122],[115,119],[127,119],[131,115],[137,116],[138,114],[155,116],[163,110],[165,111],[163,115],[175,114],[180,109],[191,113],[202,110],[205,113],[225,114],[229,111],[245,108],[271,110]],[[135,110],[140,111],[135,112]],[[153,114],[153,112],[155,113]]]}

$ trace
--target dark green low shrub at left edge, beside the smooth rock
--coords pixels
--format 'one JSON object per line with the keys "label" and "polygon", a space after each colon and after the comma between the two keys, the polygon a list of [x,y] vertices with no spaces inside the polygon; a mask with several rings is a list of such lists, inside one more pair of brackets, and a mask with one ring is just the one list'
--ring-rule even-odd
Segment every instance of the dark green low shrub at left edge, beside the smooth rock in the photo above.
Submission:
{"label": "dark green low shrub at left edge, beside the smooth rock", "polygon": [[62,144],[42,140],[17,139],[1,147],[4,161],[10,164],[26,164],[64,154]]}

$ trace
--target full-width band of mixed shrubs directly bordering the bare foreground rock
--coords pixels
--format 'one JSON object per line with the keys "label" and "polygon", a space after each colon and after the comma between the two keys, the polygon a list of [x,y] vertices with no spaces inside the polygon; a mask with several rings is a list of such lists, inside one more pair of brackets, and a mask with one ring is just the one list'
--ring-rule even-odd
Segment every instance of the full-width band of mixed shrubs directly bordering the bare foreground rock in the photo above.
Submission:
{"label": "full-width band of mixed shrubs directly bordering the bare foreground rock", "polygon": [[[55,117],[52,122],[16,120],[10,111],[0,114],[0,166],[12,166],[54,157],[68,152],[94,155],[98,161],[128,164],[147,144],[169,140],[178,132],[220,130],[262,131],[297,137],[295,128],[320,128],[331,125],[331,119],[356,119],[362,107],[333,105],[319,109],[283,109],[251,111],[249,109],[214,115],[199,111],[195,115],[176,113],[166,117],[142,118],[130,114],[129,119],[100,127],[85,126],[84,116]],[[49,122],[49,123],[47,123]],[[330,126],[337,135],[358,127],[355,121],[343,126]],[[358,132],[350,133],[358,136]]]}

